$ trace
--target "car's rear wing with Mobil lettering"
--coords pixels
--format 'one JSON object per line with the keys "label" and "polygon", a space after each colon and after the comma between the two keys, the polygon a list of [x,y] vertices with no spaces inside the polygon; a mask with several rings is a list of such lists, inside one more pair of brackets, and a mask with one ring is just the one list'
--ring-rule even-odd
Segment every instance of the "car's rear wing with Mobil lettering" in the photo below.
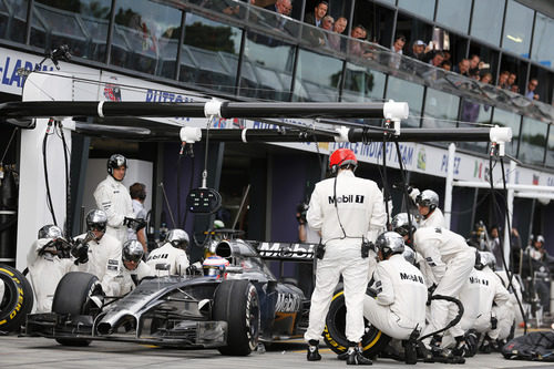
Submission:
{"label": "car's rear wing with Mobil lettering", "polygon": [[310,262],[314,259],[317,244],[265,243],[248,240],[266,260]]}

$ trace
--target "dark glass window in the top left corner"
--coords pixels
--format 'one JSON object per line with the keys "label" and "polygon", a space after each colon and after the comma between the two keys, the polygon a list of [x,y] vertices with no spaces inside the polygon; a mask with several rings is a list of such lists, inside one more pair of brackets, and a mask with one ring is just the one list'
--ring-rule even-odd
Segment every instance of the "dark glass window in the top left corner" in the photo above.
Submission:
{"label": "dark glass window in the top left corner", "polygon": [[0,39],[25,42],[27,0],[6,0],[0,2]]}

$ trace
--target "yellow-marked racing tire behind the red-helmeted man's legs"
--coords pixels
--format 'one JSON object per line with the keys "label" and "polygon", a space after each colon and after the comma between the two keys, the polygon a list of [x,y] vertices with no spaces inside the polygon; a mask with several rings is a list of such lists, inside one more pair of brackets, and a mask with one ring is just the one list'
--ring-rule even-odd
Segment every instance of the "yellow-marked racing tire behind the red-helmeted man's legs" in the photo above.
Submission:
{"label": "yellow-marked racing tire behind the red-helmeted man's legs", "polygon": [[[371,293],[368,290],[367,294],[370,295]],[[375,357],[387,347],[390,337],[370,325],[368,320],[363,319],[363,321],[366,324],[366,334],[361,338],[363,356],[368,358]],[[327,347],[336,353],[346,352],[348,349],[348,340],[345,335],[346,304],[345,291],[342,289],[335,291],[325,322],[324,340]]]}

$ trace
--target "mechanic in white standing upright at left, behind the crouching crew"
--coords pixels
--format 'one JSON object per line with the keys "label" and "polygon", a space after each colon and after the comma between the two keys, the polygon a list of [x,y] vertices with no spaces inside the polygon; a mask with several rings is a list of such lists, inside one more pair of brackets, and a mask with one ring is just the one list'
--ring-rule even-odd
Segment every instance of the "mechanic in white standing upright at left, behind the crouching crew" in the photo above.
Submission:
{"label": "mechanic in white standing upright at left, behind the crouching crew", "polygon": [[99,209],[107,216],[106,233],[124,243],[127,239],[127,227],[135,232],[145,227],[144,219],[135,219],[131,195],[121,183],[125,177],[127,160],[114,154],[107,160],[107,176],[99,183],[94,191],[94,199]]}

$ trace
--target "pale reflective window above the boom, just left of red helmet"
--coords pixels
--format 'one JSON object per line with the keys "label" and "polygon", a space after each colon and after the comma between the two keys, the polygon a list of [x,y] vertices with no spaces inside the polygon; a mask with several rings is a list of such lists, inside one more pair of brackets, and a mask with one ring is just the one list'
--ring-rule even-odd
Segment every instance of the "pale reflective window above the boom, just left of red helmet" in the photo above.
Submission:
{"label": "pale reflective window above the boom, just left of red helmet", "polygon": [[341,60],[300,49],[293,100],[338,101],[341,74]]}

